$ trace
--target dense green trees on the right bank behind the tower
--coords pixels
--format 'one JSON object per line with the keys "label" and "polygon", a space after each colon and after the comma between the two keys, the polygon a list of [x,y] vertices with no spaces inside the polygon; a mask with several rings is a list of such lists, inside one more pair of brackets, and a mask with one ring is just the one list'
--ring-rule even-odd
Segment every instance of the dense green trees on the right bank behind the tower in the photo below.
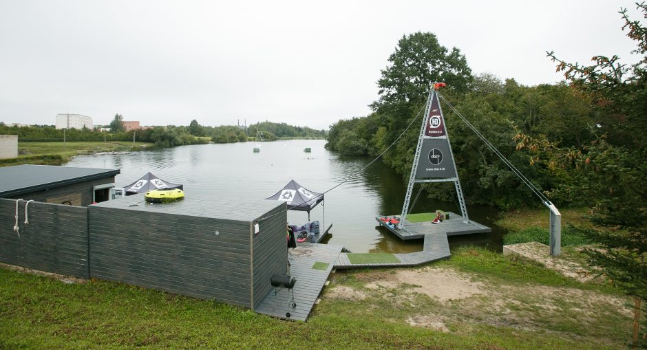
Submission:
{"label": "dense green trees on the right bank behind the tower", "polygon": [[[647,18],[646,3],[637,8]],[[564,81],[524,86],[489,74],[474,76],[460,50],[432,33],[403,36],[378,81],[372,113],[339,120],[326,147],[345,155],[378,155],[405,179],[421,120],[399,135],[425,107],[429,83],[559,206],[590,208],[593,227],[569,228],[597,243],[584,250],[606,281],[635,297],[647,312],[647,25],[621,9],[622,30],[635,44],[633,65],[618,56],[593,56],[591,65],[547,52]],[[533,193],[441,102],[458,175],[472,203],[512,209],[540,206]],[[397,141],[396,141],[397,140]],[[425,185],[429,197],[449,199],[452,186]],[[644,317],[644,316],[643,316]],[[639,340],[637,319],[633,342]],[[642,333],[645,333],[644,326]]]}

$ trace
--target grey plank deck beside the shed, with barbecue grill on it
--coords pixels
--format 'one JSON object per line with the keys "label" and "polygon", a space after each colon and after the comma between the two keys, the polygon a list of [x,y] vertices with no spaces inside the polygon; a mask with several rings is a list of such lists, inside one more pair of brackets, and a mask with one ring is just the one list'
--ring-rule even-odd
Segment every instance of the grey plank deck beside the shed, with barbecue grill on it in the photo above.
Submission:
{"label": "grey plank deck beside the shed, with barbecue grill on it", "polygon": [[[288,261],[291,264],[290,275],[297,280],[293,288],[297,307],[289,305],[291,298],[288,297],[288,289],[283,288],[277,289],[276,296],[274,289],[271,290],[254,311],[289,320],[305,321],[308,318],[342,247],[306,242],[298,244],[297,248],[288,251]],[[328,263],[328,267],[326,270],[313,269],[312,266],[317,262]],[[286,316],[288,312],[289,318]]]}

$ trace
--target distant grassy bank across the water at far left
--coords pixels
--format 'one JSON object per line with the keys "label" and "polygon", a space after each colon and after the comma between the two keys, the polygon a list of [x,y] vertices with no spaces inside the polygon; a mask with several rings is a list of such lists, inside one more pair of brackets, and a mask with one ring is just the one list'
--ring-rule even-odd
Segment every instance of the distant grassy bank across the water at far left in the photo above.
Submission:
{"label": "distant grassy bank across the water at far left", "polygon": [[1,160],[0,166],[19,164],[61,165],[79,152],[112,152],[140,150],[153,146],[147,142],[19,142],[18,157]]}

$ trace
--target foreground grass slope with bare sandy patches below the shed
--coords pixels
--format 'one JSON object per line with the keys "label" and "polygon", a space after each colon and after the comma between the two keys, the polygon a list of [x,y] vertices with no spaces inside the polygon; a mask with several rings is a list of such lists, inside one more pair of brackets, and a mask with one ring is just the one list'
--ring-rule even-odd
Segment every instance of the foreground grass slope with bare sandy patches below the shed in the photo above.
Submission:
{"label": "foreground grass slope with bare sandy patches below the shed", "polygon": [[331,276],[304,323],[0,268],[0,348],[617,349],[631,325],[611,287],[478,248],[422,269]]}

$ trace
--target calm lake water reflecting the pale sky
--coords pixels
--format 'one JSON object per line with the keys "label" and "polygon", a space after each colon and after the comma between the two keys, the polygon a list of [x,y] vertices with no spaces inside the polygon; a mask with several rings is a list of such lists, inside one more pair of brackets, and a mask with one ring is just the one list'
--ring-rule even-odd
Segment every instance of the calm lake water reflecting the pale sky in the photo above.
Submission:
{"label": "calm lake water reflecting the pale sky", "polygon": [[[253,149],[259,144],[259,153]],[[128,155],[79,155],[66,166],[118,168],[116,186],[123,187],[150,171],[176,184],[184,184],[187,197],[240,197],[264,199],[283,188],[291,179],[324,192],[352,176],[345,184],[326,194],[325,208],[317,206],[310,219],[321,227],[332,223],[330,244],[343,245],[352,252],[416,252],[422,240],[404,243],[377,225],[378,215],[400,214],[407,184],[380,161],[361,171],[372,159],[347,157],[324,149],[324,140],[286,140],[235,144],[179,146]],[[304,153],[310,147],[312,153]],[[414,189],[415,191],[415,189]],[[460,212],[454,203],[418,199],[412,212],[436,209]],[[492,228],[491,233],[450,237],[449,245],[481,245],[502,249],[502,230],[494,226],[494,208],[469,206],[469,218]],[[288,221],[300,226],[308,221],[306,212],[290,210]]]}

